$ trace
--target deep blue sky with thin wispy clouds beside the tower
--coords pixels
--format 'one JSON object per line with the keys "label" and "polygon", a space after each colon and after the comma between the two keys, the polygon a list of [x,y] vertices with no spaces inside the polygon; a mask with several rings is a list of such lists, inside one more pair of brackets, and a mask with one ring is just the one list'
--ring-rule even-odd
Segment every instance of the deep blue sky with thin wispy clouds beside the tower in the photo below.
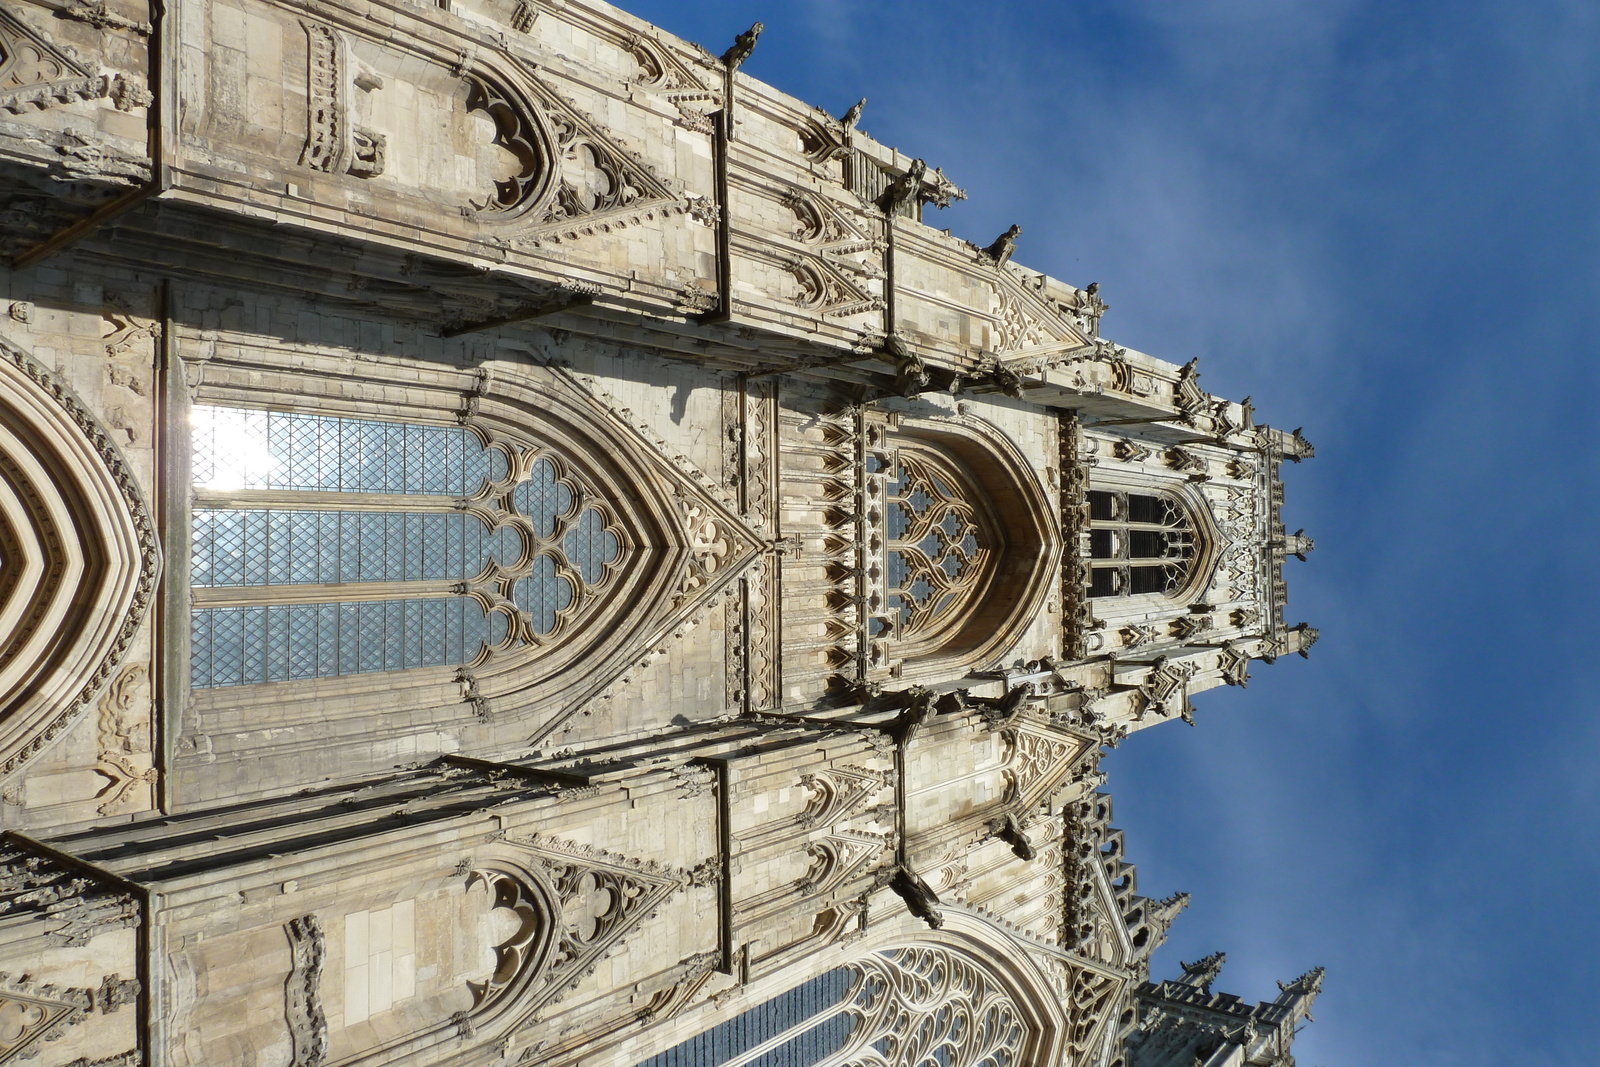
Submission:
{"label": "deep blue sky with thin wispy clouds beside the tower", "polygon": [[1600,5],[624,6],[944,166],[933,219],[1101,282],[1104,333],[1304,426],[1290,621],[1107,769],[1157,971],[1328,966],[1304,1067],[1600,1064],[1590,547]]}

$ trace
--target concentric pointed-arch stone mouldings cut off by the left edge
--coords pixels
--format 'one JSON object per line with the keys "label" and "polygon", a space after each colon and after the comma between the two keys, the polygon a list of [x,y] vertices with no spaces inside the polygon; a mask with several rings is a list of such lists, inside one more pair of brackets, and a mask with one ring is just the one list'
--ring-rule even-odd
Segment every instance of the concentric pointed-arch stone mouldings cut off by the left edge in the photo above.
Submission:
{"label": "concentric pointed-arch stone mouldings cut off by the left edge", "polygon": [[0,776],[38,755],[110,678],[160,560],[109,432],[0,339]]}

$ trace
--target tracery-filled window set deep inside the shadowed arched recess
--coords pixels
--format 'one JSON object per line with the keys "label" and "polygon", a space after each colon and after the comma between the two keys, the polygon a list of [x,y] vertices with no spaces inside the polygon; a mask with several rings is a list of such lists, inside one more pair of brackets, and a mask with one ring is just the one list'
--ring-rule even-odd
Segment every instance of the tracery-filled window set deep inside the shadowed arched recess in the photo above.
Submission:
{"label": "tracery-filled window set deep inside the shadowed arched recess", "polygon": [[931,454],[901,448],[885,490],[890,621],[901,640],[947,621],[989,557],[962,482]]}

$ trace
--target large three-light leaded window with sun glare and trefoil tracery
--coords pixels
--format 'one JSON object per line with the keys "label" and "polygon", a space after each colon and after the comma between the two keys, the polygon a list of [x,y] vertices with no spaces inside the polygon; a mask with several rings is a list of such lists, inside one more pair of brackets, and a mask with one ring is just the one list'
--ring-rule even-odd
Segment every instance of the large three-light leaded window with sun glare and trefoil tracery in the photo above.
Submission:
{"label": "large three-light leaded window with sun glare and trefoil tracery", "polygon": [[197,689],[558,640],[627,555],[558,451],[466,427],[197,406],[190,459]]}

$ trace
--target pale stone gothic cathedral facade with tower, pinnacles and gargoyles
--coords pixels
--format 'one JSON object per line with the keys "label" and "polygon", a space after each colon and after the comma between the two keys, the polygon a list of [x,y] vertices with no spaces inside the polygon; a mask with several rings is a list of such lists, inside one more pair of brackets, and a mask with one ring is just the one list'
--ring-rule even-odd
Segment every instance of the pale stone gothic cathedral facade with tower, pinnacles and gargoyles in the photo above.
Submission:
{"label": "pale stone gothic cathedral facade with tower, pinnacles and gargoyles", "polygon": [[0,1064],[1293,1062],[1098,761],[1310,445],[758,35],[0,5]]}

